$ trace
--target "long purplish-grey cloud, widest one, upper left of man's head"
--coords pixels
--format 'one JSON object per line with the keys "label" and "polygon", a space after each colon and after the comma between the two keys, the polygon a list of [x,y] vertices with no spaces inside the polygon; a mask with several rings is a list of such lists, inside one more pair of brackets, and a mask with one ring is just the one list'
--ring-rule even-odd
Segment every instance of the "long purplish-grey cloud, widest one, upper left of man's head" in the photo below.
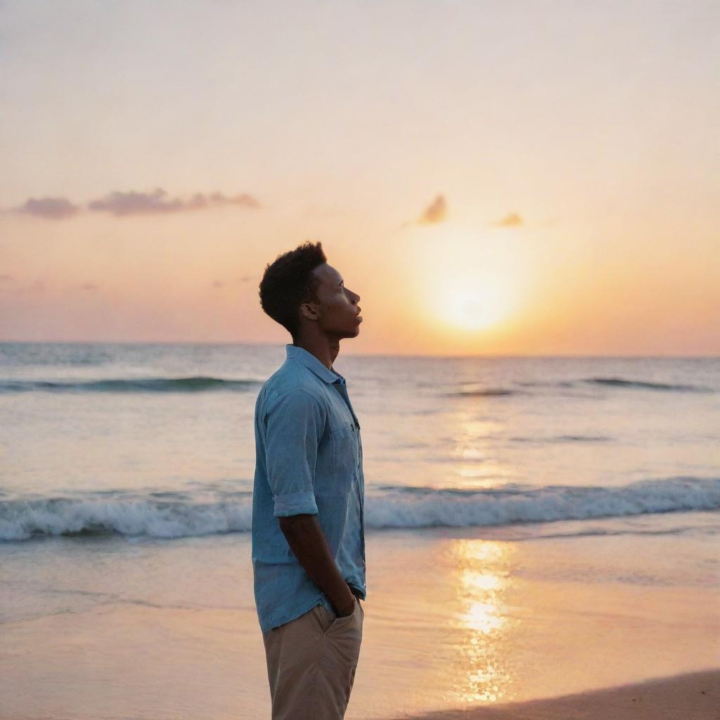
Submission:
{"label": "long purplish-grey cloud, widest one, upper left of man's head", "polygon": [[220,205],[238,205],[240,207],[260,207],[260,203],[246,193],[225,195],[222,192],[195,193],[189,199],[168,197],[165,190],[158,187],[153,192],[111,192],[105,197],[91,200],[89,210],[109,212],[116,217],[124,215],[161,215],[168,212],[187,212],[204,210]]}

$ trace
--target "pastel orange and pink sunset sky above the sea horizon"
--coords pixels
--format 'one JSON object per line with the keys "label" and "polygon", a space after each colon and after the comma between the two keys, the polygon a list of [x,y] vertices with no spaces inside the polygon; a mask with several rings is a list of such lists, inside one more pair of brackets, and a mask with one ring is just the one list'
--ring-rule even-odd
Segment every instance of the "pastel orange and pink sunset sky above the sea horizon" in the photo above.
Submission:
{"label": "pastel orange and pink sunset sky above the sea horizon", "polygon": [[0,341],[720,355],[716,1],[4,2]]}

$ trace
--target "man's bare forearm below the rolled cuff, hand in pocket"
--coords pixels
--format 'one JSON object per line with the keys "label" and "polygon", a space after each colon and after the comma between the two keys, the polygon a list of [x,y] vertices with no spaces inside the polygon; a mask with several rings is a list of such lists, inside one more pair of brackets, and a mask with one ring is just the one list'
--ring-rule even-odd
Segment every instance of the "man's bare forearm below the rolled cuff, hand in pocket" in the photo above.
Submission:
{"label": "man's bare forearm below the rolled cuff, hand in pocket", "polygon": [[277,518],[290,549],[312,582],[328,596],[336,615],[350,615],[355,598],[330,553],[317,515],[290,515]]}

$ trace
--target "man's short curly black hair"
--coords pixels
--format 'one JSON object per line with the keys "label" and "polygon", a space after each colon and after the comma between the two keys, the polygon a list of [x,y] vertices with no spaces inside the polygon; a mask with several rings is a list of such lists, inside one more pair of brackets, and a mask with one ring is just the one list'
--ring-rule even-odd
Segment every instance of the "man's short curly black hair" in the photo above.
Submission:
{"label": "man's short curly black hair", "polygon": [[300,305],[318,300],[320,280],[312,271],[327,261],[323,243],[305,240],[265,266],[258,291],[260,305],[290,333],[293,343],[300,331]]}

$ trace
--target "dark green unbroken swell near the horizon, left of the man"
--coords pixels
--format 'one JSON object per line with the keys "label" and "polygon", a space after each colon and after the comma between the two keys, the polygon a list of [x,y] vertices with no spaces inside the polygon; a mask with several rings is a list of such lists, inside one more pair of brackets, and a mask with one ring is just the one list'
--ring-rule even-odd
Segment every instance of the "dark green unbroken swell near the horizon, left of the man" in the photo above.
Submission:
{"label": "dark green unbroken swell near the horizon, left of the man", "polygon": [[3,380],[0,392],[203,392],[231,390],[244,392],[261,384],[257,380],[230,380],[220,377],[133,377],[104,380]]}

